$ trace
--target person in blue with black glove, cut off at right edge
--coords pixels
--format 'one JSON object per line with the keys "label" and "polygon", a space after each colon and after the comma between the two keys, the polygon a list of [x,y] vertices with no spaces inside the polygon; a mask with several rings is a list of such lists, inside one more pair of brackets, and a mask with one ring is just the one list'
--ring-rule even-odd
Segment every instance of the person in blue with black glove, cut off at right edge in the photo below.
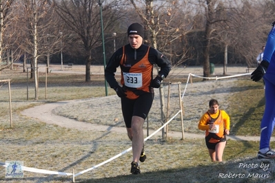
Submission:
{"label": "person in blue with black glove, cut off at right edge", "polygon": [[267,37],[263,61],[252,72],[251,79],[254,81],[265,81],[265,111],[261,120],[261,139],[257,158],[275,158],[275,151],[270,148],[270,138],[275,125],[275,27],[272,23],[272,30]]}

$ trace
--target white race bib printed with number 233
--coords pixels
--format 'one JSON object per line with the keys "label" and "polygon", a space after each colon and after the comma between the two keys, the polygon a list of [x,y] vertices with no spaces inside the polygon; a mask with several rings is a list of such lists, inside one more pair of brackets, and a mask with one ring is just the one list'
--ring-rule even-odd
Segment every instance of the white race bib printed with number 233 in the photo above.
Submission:
{"label": "white race bib printed with number 233", "polygon": [[142,87],[142,73],[123,72],[123,78],[126,87]]}

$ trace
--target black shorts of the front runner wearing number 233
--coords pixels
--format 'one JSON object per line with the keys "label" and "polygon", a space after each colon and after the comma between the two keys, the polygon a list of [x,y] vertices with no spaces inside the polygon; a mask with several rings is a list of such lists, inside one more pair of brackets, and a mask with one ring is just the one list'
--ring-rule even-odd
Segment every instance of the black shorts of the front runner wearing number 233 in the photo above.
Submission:
{"label": "black shorts of the front runner wearing number 233", "polygon": [[126,127],[130,128],[132,123],[132,116],[139,116],[143,119],[152,107],[154,94],[145,93],[134,100],[129,98],[121,98],[121,109]]}

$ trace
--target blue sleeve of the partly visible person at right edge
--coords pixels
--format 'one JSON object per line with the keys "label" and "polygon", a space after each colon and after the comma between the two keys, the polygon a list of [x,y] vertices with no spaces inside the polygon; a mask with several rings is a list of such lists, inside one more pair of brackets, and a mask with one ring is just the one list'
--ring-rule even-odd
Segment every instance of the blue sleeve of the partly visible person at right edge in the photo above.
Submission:
{"label": "blue sleeve of the partly visible person at right edge", "polygon": [[275,50],[275,26],[269,32],[267,37],[267,43],[265,45],[265,51],[263,52],[263,61],[270,63],[271,57]]}

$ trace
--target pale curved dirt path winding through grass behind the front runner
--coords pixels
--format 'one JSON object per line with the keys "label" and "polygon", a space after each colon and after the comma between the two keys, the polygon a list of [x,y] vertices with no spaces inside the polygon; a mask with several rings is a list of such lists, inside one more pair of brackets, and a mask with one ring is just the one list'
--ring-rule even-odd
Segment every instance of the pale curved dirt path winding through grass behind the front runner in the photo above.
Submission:
{"label": "pale curved dirt path winding through grass behind the front runner", "polygon": [[[70,118],[65,118],[63,116],[58,116],[52,113],[52,110],[60,105],[65,105],[70,103],[68,101],[62,101],[58,103],[48,103],[45,105],[39,105],[36,107],[31,107],[24,111],[21,111],[21,114],[24,116],[29,116],[31,118],[37,118],[43,122],[53,125],[59,125],[61,127],[71,128],[71,129],[78,129],[80,131],[113,131],[119,133],[126,133],[126,129],[124,127],[111,127],[105,125],[95,125],[88,122],[81,122],[77,120],[73,120]],[[154,131],[150,131],[152,134]],[[144,134],[147,134],[147,129],[144,129]],[[161,131],[156,133],[157,136],[161,136]],[[182,133],[178,131],[168,131],[168,136],[173,138],[182,138]],[[198,133],[184,133],[184,138],[204,138],[204,134]],[[231,140],[253,140],[257,141],[260,140],[258,136],[227,136],[227,139]],[[272,137],[272,141],[275,139]]]}

